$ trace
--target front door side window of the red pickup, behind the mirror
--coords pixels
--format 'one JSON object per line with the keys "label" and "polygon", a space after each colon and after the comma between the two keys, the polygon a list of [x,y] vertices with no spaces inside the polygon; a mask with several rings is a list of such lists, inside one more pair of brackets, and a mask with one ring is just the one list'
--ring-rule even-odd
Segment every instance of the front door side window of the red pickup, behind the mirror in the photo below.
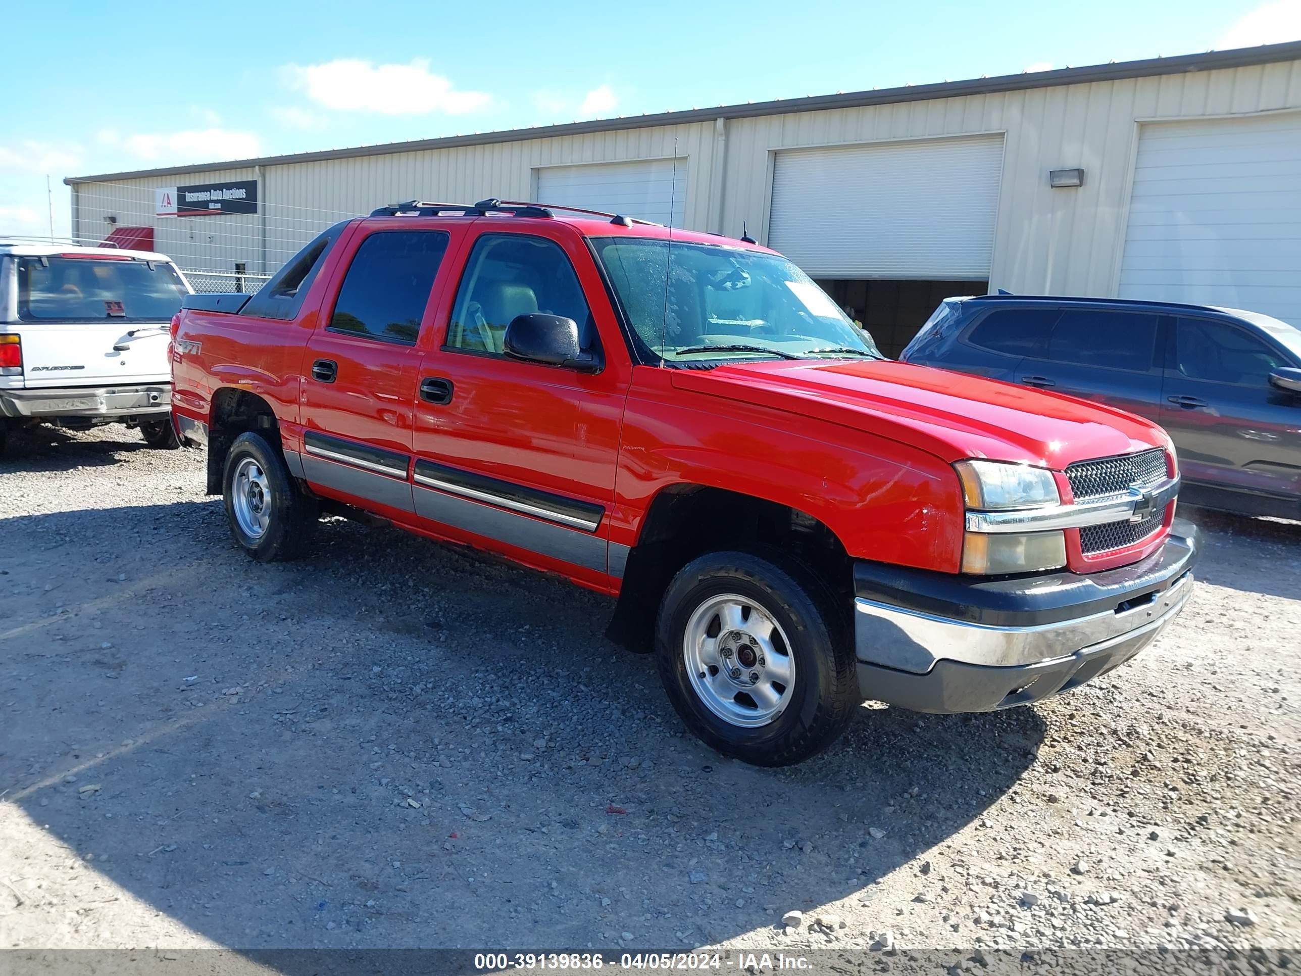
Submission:
{"label": "front door side window of the red pickup, behind the mirror", "polygon": [[466,263],[444,349],[501,355],[511,319],[532,312],[572,319],[583,349],[596,345],[592,311],[559,245],[526,234],[484,234]]}

